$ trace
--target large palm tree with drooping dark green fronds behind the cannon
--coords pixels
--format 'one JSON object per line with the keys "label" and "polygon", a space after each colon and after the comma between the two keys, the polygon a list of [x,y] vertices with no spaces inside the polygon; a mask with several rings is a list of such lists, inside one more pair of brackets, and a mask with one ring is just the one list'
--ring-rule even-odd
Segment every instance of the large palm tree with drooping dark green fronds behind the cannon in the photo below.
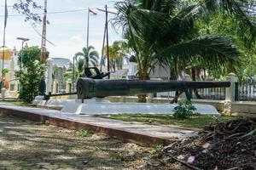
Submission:
{"label": "large palm tree with drooping dark green fronds behind the cannon", "polygon": [[244,4],[242,0],[206,0],[188,4],[177,0],[120,2],[115,4],[118,13],[113,26],[122,28],[136,54],[139,79],[148,79],[156,62],[172,66],[178,77],[180,70],[193,60],[216,67],[236,64],[239,52],[229,38],[219,35],[197,37],[194,26],[196,20],[224,7],[244,22],[243,28],[253,35],[255,27],[241,4]]}

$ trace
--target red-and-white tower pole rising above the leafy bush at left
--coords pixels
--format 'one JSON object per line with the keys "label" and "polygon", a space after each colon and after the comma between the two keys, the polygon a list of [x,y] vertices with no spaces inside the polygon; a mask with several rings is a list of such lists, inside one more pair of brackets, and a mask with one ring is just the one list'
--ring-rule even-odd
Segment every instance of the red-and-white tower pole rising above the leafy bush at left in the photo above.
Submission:
{"label": "red-and-white tower pole rising above the leafy bush at left", "polygon": [[44,0],[44,20],[43,20],[40,63],[45,63],[45,60],[46,60],[46,24],[47,24],[46,14],[47,14],[47,0]]}

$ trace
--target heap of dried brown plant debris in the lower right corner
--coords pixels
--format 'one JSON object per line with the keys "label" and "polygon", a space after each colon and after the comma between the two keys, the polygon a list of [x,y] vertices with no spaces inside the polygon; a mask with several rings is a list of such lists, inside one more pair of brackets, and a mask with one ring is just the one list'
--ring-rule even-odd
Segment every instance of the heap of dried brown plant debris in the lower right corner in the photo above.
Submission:
{"label": "heap of dried brown plant debris in the lower right corner", "polygon": [[256,122],[246,118],[217,120],[198,136],[166,146],[158,159],[192,169],[256,169],[255,129]]}

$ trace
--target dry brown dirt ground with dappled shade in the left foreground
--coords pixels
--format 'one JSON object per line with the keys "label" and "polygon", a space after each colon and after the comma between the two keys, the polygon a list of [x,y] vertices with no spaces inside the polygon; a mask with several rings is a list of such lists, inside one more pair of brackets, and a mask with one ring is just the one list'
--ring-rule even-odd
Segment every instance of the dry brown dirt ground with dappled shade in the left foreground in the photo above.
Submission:
{"label": "dry brown dirt ground with dappled shade in the left foreground", "polygon": [[138,169],[151,148],[0,114],[0,169]]}

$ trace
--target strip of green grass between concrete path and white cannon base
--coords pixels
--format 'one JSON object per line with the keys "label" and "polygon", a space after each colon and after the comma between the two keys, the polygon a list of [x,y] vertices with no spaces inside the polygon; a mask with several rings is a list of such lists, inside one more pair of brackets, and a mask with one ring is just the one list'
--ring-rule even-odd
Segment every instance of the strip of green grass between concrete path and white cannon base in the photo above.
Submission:
{"label": "strip of green grass between concrete path and white cannon base", "polygon": [[123,121],[147,122],[154,125],[175,125],[180,127],[201,128],[214,122],[216,117],[219,121],[234,119],[234,116],[193,116],[189,119],[176,119],[172,115],[145,115],[145,114],[120,114],[109,116]]}

